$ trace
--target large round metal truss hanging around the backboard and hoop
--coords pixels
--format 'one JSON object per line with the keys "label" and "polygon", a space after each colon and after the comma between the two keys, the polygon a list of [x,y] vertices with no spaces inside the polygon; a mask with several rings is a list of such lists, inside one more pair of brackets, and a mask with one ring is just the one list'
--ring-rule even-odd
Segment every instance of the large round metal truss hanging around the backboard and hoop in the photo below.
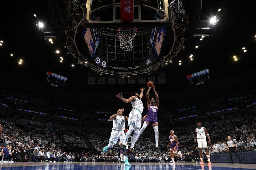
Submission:
{"label": "large round metal truss hanging around the backboard and hoop", "polygon": [[[160,58],[160,61],[158,61],[157,63],[152,64],[148,68],[139,71],[118,72],[103,69],[95,63],[89,62],[87,56],[82,55],[81,50],[78,48],[79,44],[77,44],[76,42],[76,34],[79,33],[78,27],[82,26],[83,24],[83,11],[86,8],[86,2],[81,3],[81,1],[76,0],[67,0],[66,2],[68,7],[66,12],[69,19],[65,30],[66,46],[70,54],[73,55],[73,57],[75,57],[79,62],[81,62],[81,64],[91,70],[94,70],[97,73],[113,76],[133,76],[145,73],[153,73],[155,70],[158,70],[159,68],[164,66],[166,60],[171,60],[173,57],[175,57],[183,46],[185,28],[182,23],[182,3],[181,0],[169,1],[169,5],[172,9],[172,31],[174,33],[174,41],[171,47],[166,47],[170,48],[170,52],[168,53],[168,55],[162,56]],[[102,2],[102,0],[98,1],[97,9],[100,8],[99,6],[101,6]],[[113,4],[118,3],[120,3],[120,0],[113,0]],[[143,5],[145,6],[146,3],[149,3],[149,1],[145,0]],[[157,0],[157,4],[155,4],[155,6],[152,6],[152,4],[150,5],[151,8],[154,8],[156,11],[162,11],[163,9],[161,0]],[[92,10],[95,9],[92,8]],[[111,31],[109,29],[102,28],[98,30],[100,32],[99,45],[101,46],[101,48],[98,47],[96,54],[109,62],[111,65],[133,65],[141,63],[144,59],[146,59],[154,52],[149,41],[149,29],[150,28],[140,28],[138,36],[136,36],[133,41],[133,50],[131,52],[124,52],[121,51],[121,49],[119,48],[120,42],[115,34],[116,30]]]}

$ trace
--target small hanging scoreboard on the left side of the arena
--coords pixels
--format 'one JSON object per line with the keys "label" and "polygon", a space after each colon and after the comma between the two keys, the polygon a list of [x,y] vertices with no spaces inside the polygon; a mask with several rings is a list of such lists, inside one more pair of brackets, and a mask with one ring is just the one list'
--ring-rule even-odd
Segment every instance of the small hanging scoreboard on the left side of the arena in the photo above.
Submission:
{"label": "small hanging scoreboard on the left side of the arena", "polygon": [[64,87],[66,84],[67,78],[60,76],[58,74],[52,73],[50,71],[46,72],[46,82],[49,82],[50,85],[55,87]]}

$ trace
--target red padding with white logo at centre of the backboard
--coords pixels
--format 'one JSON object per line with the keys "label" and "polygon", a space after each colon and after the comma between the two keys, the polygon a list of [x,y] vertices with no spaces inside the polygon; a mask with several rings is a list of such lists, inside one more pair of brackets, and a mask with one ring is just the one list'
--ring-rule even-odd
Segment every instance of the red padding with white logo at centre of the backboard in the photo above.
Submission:
{"label": "red padding with white logo at centre of the backboard", "polygon": [[121,21],[133,20],[133,0],[120,0]]}

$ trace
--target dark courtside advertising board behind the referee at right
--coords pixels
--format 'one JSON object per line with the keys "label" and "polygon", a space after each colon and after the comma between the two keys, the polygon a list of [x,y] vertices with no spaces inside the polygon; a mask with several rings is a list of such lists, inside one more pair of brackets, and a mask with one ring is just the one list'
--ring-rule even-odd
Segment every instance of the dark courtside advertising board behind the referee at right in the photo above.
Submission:
{"label": "dark courtside advertising board behind the referee at right", "polygon": [[[233,162],[239,163],[236,155],[232,153]],[[243,163],[256,163],[256,151],[238,152]],[[211,162],[230,163],[229,153],[211,154]]]}

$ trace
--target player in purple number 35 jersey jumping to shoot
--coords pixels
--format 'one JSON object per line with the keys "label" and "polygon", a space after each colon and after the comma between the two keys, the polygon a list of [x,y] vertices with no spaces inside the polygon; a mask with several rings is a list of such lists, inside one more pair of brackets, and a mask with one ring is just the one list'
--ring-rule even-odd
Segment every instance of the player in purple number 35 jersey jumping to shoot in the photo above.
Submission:
{"label": "player in purple number 35 jersey jumping to shoot", "polygon": [[[154,98],[149,100],[149,91],[150,89],[153,87],[153,91],[155,92],[156,95],[156,101]],[[151,124],[154,131],[155,131],[155,140],[156,140],[156,147],[154,148],[155,152],[161,153],[161,150],[158,147],[158,123],[157,123],[157,111],[158,111],[158,106],[159,106],[159,97],[158,94],[156,92],[156,88],[155,85],[153,85],[152,87],[148,88],[148,92],[146,94],[147,97],[147,103],[148,103],[148,116],[146,117],[142,128],[139,131],[139,136],[137,138],[137,140],[139,139],[140,135],[142,134],[142,132],[146,129],[146,127]]]}

